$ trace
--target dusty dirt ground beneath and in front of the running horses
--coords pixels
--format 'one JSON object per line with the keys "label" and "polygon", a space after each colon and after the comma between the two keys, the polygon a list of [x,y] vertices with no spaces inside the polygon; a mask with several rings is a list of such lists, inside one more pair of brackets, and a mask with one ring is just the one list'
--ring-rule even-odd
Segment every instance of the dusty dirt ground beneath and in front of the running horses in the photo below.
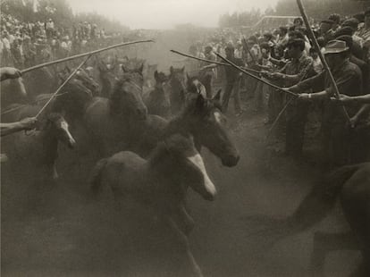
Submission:
{"label": "dusty dirt ground beneath and in front of the running horses", "polygon": [[[264,116],[253,113],[250,105],[246,109],[242,117],[230,119],[240,151],[236,167],[223,167],[203,150],[218,195],[211,203],[189,191],[189,214],[196,222],[189,237],[193,254],[205,276],[312,276],[313,232],[347,228],[340,208],[315,230],[274,244],[273,236],[248,235],[257,226],[246,216],[292,213],[321,171],[271,155],[276,143],[265,139]],[[3,167],[3,172],[9,170]],[[34,197],[2,174],[2,276],[191,275],[172,234],[150,210],[128,199],[117,212],[109,196],[93,199],[87,184],[73,181],[78,169],[71,173],[66,168],[60,166],[60,180],[39,187]],[[325,276],[349,275],[358,258],[353,251],[332,253]]]}

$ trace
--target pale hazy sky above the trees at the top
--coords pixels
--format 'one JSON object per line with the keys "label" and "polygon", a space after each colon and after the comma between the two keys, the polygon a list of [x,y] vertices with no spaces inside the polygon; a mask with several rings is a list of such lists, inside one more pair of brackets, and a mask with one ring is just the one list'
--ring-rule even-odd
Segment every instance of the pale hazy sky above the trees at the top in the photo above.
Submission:
{"label": "pale hazy sky above the trees at the top", "polygon": [[168,29],[176,24],[217,26],[219,15],[253,7],[274,6],[278,0],[68,0],[74,12],[93,12],[116,19],[131,29]]}

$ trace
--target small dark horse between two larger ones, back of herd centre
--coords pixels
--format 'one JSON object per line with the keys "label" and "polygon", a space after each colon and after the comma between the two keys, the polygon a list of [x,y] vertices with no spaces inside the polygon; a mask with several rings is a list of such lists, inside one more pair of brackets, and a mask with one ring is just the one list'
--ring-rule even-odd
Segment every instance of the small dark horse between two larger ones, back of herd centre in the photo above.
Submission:
{"label": "small dark horse between two larger ones, back of herd centre", "polygon": [[147,97],[147,113],[168,118],[171,114],[171,104],[164,92],[164,83],[168,80],[168,77],[164,72],[158,71],[154,72],[154,76],[156,85]]}

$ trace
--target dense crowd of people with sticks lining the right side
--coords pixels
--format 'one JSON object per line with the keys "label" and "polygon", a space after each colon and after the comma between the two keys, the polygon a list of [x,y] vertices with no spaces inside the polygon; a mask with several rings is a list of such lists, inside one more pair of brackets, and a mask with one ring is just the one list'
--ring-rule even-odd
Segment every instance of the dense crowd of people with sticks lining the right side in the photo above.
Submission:
{"label": "dense crowd of people with sticks lining the right side", "polygon": [[[243,92],[256,112],[266,111],[265,124],[278,126],[275,129],[284,134],[282,154],[303,157],[308,114],[316,113],[321,123],[320,148],[325,164],[332,167],[366,161],[370,149],[370,106],[362,101],[368,102],[370,88],[370,9],[345,18],[331,14],[317,22],[312,29],[319,50],[304,26],[298,17],[287,26],[249,34],[247,38],[241,32],[220,32],[189,48],[195,57],[222,62],[214,55],[217,52],[290,93],[246,77],[230,66],[190,59],[188,70],[211,75],[213,85],[222,80],[224,112],[232,95],[236,115],[243,113]],[[318,51],[332,71],[341,94],[339,102],[337,88],[324,70]]]}

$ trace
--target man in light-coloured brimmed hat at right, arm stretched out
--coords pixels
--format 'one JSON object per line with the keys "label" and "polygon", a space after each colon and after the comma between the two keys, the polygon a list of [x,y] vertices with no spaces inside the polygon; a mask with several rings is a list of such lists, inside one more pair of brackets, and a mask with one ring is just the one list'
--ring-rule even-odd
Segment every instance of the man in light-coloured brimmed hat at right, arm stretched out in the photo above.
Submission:
{"label": "man in light-coloured brimmed hat at right, arm stretched out", "polygon": [[[346,42],[341,40],[328,42],[324,55],[340,93],[347,96],[361,95],[362,74],[356,64],[349,62],[349,46],[346,45]],[[296,93],[313,89],[315,93],[299,94],[299,100],[323,101],[322,131],[326,162],[330,166],[348,164],[352,147],[349,142],[349,124],[341,105],[330,101],[330,97],[334,96],[335,91],[328,73],[323,71],[289,89]],[[346,109],[349,117],[352,117],[357,113],[359,105],[346,105]]]}

